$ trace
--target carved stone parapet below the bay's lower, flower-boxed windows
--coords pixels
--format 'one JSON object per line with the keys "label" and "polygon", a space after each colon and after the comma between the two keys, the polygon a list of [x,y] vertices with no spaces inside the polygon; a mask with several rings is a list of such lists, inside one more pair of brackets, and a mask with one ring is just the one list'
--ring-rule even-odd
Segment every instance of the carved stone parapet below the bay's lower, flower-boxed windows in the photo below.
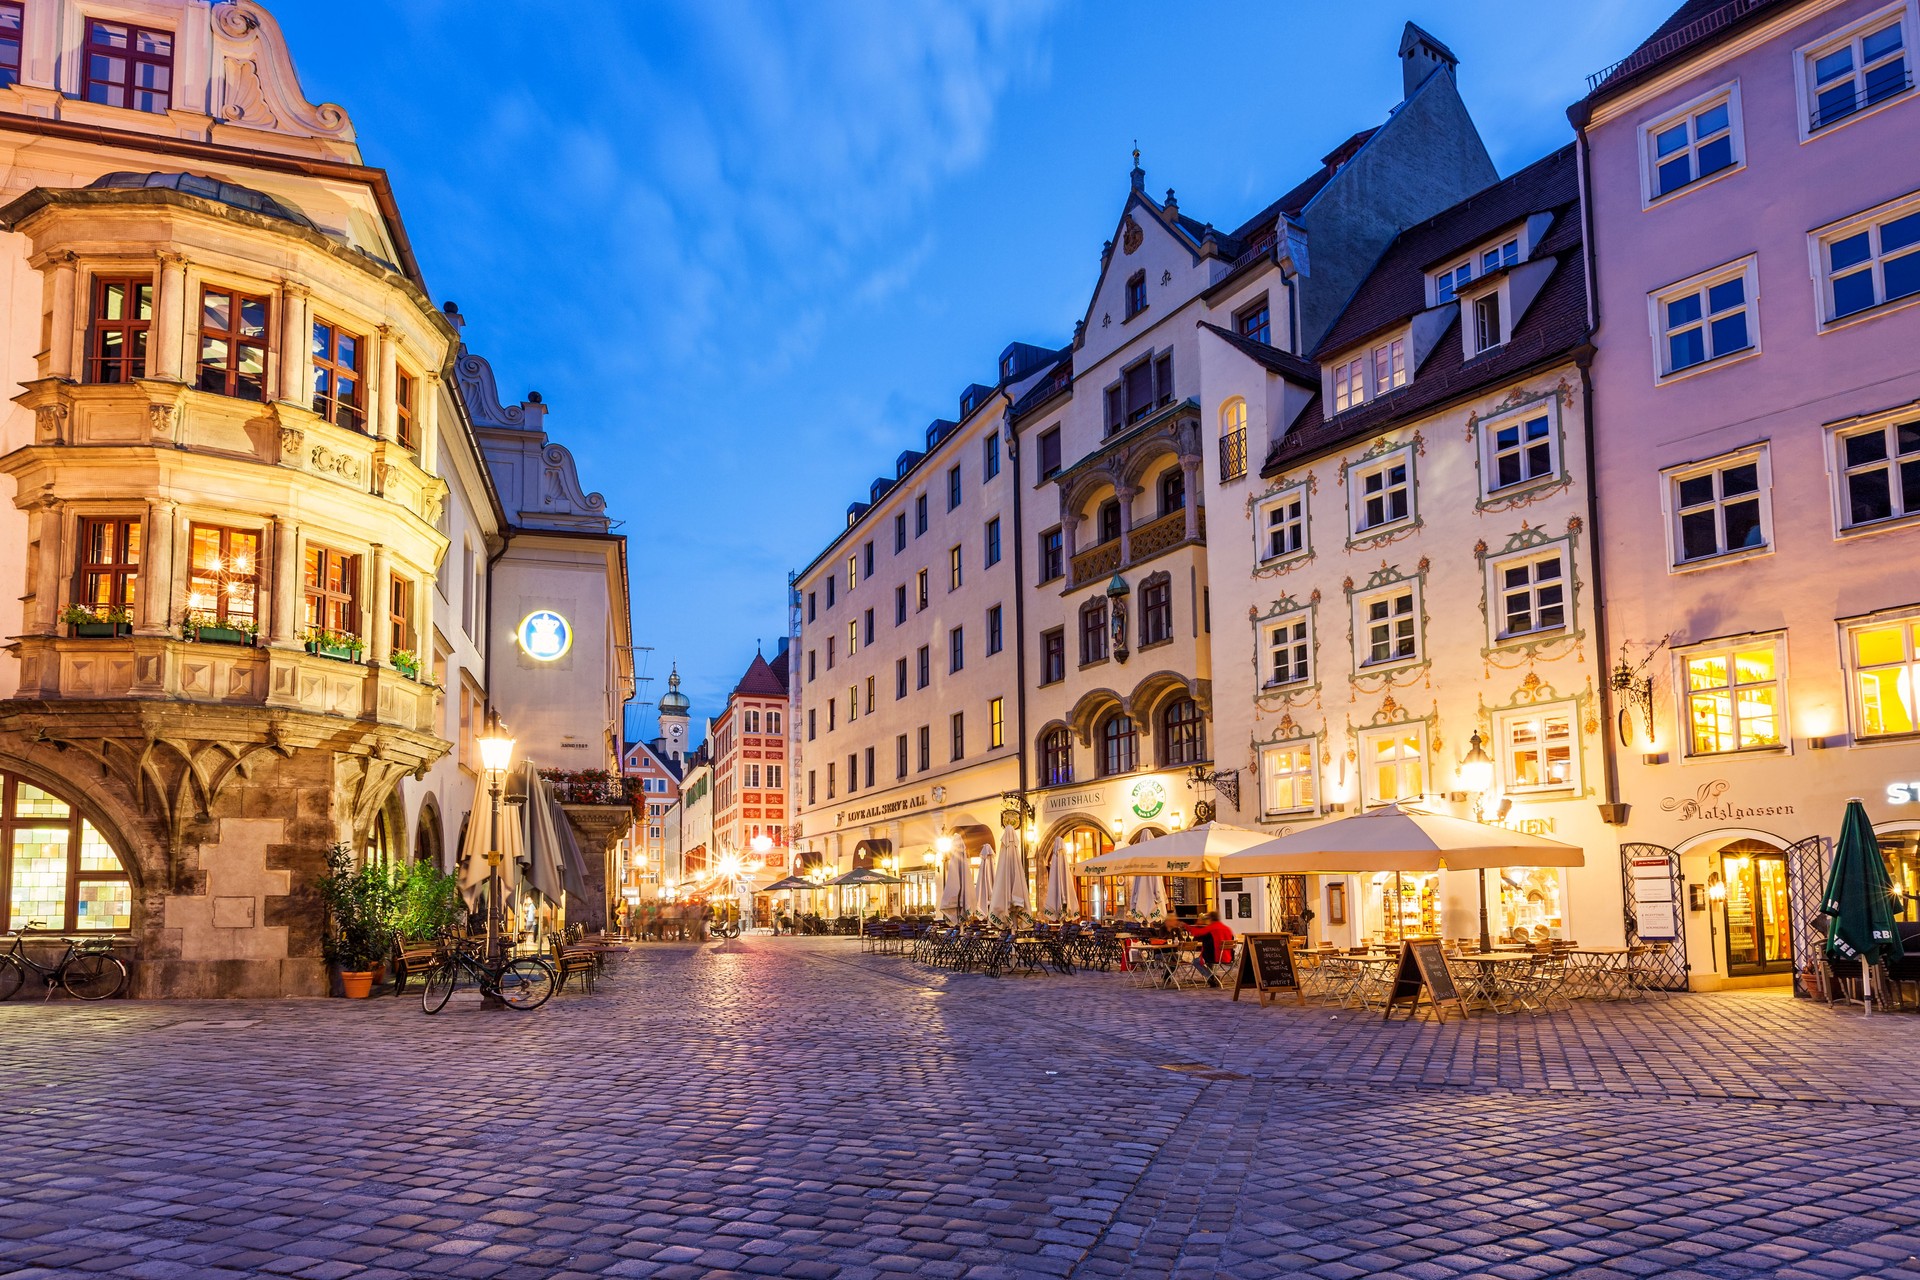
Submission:
{"label": "carved stone parapet below the bay's lower, flower-boxed windows", "polygon": [[154,699],[300,710],[436,733],[440,689],[394,668],[271,645],[213,645],[167,635],[44,637],[10,645],[19,699],[86,702]]}

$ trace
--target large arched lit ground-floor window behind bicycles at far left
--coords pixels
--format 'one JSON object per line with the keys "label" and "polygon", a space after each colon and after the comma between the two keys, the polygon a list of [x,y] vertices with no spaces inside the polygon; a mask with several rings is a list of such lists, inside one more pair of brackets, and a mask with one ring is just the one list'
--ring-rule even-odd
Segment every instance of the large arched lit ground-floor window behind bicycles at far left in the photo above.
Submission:
{"label": "large arched lit ground-floor window behind bicycles at far left", "polygon": [[0,773],[0,883],[8,929],[132,929],[127,867],[71,804],[23,777]]}

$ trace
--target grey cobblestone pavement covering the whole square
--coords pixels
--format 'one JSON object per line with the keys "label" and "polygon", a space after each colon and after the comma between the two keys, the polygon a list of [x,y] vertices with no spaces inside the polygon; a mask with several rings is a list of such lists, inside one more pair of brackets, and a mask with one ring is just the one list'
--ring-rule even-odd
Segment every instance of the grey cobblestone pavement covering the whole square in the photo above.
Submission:
{"label": "grey cobblestone pavement covering the whole square", "polygon": [[0,1276],[1920,1280],[1920,1017],[1394,1023],[653,946],[530,1015],[0,1006]]}

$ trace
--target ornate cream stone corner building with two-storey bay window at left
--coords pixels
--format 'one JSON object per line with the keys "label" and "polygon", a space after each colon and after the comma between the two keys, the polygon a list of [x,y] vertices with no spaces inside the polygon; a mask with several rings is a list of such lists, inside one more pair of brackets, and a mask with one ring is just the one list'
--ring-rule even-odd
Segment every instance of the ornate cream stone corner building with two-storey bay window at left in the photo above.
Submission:
{"label": "ornate cream stone corner building with two-storey bay window at left", "polygon": [[8,19],[4,923],[129,933],[138,994],[319,994],[326,846],[453,737],[457,313],[259,6]]}

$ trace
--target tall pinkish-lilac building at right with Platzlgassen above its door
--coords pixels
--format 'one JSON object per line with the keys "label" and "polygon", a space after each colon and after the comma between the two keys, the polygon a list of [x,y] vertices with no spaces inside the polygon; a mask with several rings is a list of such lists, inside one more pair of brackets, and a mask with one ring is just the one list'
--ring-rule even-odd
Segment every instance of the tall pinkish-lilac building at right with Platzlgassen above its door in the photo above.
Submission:
{"label": "tall pinkish-lilac building at right with Platzlgassen above its door", "polygon": [[1695,988],[1807,983],[1849,796],[1920,892],[1916,17],[1686,4],[1571,111],[1607,812]]}

